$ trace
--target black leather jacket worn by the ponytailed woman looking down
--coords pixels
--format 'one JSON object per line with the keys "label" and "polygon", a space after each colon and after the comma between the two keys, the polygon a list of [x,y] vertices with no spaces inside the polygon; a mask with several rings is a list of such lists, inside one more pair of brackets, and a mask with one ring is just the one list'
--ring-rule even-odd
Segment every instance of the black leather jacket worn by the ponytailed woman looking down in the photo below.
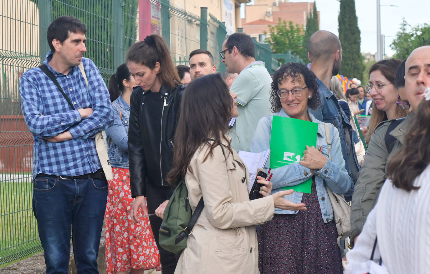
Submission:
{"label": "black leather jacket worn by the ponytailed woman looking down", "polygon": [[[169,186],[165,178],[172,169],[173,137],[184,88],[185,85],[182,84],[172,90],[165,85],[161,86],[159,94],[164,97],[164,102],[161,112],[161,140],[158,138],[157,142],[154,142],[154,138],[160,136],[160,132],[151,132],[153,129],[147,126],[149,120],[155,119],[154,106],[145,104],[145,95],[151,91],[138,87],[132,92],[128,140],[132,197],[146,196],[146,184],[156,187]],[[155,112],[159,113],[160,110]],[[160,117],[158,119],[160,120]],[[157,147],[154,147],[154,143],[157,143]]]}

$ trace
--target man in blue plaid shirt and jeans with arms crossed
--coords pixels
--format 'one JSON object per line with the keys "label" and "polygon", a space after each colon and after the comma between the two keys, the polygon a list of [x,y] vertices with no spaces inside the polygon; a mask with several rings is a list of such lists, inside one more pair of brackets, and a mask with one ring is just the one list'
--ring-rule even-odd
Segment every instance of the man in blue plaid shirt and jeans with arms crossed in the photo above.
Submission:
{"label": "man in blue plaid shirt and jeans with arms crossed", "polygon": [[70,104],[41,68],[26,71],[19,86],[22,112],[34,135],[33,210],[47,274],[68,273],[72,228],[78,273],[98,273],[107,181],[94,135],[114,123],[114,114],[100,72],[82,57],[85,34],[86,26],[71,16],[56,18],[47,32],[51,51],[43,63]]}

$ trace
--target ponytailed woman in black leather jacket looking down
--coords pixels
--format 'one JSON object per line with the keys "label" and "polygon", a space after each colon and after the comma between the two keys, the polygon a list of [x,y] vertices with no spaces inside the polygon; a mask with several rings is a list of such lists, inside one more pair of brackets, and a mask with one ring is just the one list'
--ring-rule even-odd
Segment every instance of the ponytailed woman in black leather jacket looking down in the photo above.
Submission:
{"label": "ponytailed woman in black leather jacket looking down", "polygon": [[175,254],[161,248],[158,230],[172,189],[165,178],[172,168],[173,136],[184,85],[173,65],[163,38],[153,34],[133,44],[126,58],[127,67],[135,78],[131,95],[129,124],[129,168],[133,222],[139,222],[139,207],[155,213],[149,217],[160,251],[162,273],[175,271]]}

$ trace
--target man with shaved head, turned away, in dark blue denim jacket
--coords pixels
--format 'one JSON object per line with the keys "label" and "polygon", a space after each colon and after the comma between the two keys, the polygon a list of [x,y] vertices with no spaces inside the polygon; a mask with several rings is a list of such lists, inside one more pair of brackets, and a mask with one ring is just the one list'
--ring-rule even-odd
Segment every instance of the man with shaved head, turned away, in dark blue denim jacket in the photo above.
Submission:
{"label": "man with shaved head, turned away, in dark blue denim jacket", "polygon": [[[338,98],[330,91],[330,81],[341,68],[341,41],[329,31],[316,31],[310,37],[307,48],[310,70],[317,77],[321,96],[321,105],[316,110],[311,110],[311,113],[316,119],[332,123],[338,129],[345,169],[353,182],[356,182],[360,167],[354,148],[352,126],[350,119],[339,106]],[[351,190],[345,194],[347,200],[350,200],[353,190],[354,186],[351,186]]]}

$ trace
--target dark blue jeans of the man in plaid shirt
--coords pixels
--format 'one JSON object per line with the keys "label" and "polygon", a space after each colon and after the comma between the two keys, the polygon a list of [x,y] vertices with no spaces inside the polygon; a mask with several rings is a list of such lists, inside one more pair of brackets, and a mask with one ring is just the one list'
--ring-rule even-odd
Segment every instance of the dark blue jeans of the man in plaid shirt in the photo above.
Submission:
{"label": "dark blue jeans of the man in plaid shirt", "polygon": [[98,273],[97,256],[107,200],[106,179],[33,180],[34,214],[46,274],[68,273],[70,236],[78,273]]}

